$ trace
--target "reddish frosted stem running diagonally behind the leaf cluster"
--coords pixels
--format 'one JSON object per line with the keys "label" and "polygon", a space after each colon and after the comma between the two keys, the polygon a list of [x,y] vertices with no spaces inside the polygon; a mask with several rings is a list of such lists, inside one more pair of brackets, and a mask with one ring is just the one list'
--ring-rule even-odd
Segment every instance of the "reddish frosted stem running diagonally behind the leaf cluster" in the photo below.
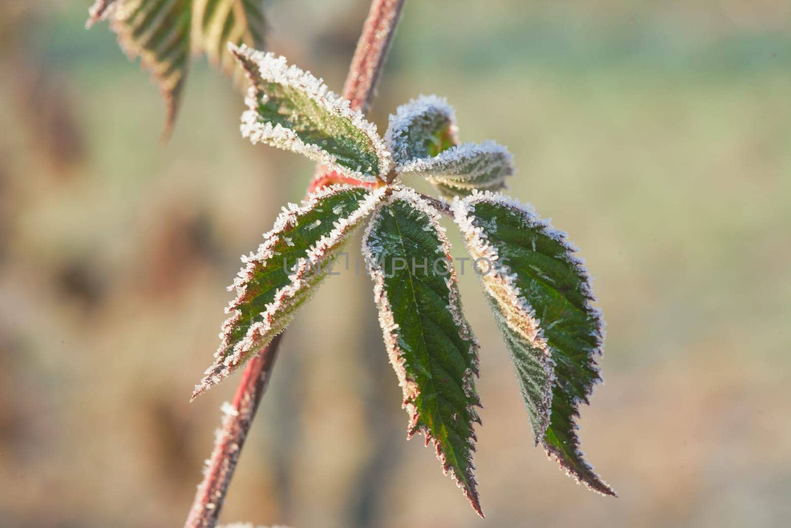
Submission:
{"label": "reddish frosted stem running diagonally behind the leaf cluster", "polygon": [[[368,18],[362,28],[357,50],[354,51],[343,85],[343,97],[351,107],[361,112],[368,110],[376,88],[384,59],[392,42],[404,0],[373,0]],[[317,167],[316,173],[324,170]],[[312,185],[308,186],[308,192]],[[225,493],[241,453],[244,440],[252,426],[255,411],[266,392],[267,384],[278,356],[282,334],[275,337],[255,358],[251,359],[239,382],[233,403],[225,408],[221,429],[198,486],[184,528],[214,528],[220,515]]]}

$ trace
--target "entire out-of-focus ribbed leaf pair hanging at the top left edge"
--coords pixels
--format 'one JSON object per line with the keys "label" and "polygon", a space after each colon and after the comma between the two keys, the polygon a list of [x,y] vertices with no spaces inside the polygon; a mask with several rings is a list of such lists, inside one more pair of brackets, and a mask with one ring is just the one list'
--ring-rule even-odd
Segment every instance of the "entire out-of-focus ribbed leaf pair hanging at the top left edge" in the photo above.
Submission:
{"label": "entire out-of-focus ribbed leaf pair hanging at the top left edge", "polygon": [[165,98],[165,135],[176,120],[187,80],[190,54],[206,53],[229,71],[225,45],[263,47],[267,23],[263,0],[97,0],[85,23],[110,19],[110,27],[130,59],[140,57]]}

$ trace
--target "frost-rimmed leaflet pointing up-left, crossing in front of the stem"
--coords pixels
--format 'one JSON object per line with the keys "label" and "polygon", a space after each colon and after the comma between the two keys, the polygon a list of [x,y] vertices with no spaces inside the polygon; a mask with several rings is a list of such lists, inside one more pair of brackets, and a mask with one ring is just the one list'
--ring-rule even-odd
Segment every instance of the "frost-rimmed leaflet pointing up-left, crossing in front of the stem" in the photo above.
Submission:
{"label": "frost-rimmed leaflet pointing up-left, crossing in front of the stem", "polygon": [[231,47],[252,84],[241,131],[253,143],[266,142],[304,154],[361,181],[384,180],[392,167],[377,127],[343,97],[285,57]]}

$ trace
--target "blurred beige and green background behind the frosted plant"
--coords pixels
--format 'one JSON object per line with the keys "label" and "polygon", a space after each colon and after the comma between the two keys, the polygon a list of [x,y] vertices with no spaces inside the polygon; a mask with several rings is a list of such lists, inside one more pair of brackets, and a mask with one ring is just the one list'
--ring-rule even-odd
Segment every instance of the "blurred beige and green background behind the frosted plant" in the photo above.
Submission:
{"label": "blurred beige and green background behind the frosted plant", "polygon": [[[242,98],[205,60],[161,144],[158,89],[107,25],[85,31],[89,3],[0,3],[0,526],[181,526],[238,381],[188,403],[225,286],[312,163],[241,139]],[[339,91],[367,6],[271,2],[270,48]],[[380,131],[420,93],[513,150],[511,193],[596,276],[607,382],[581,439],[620,498],[533,449],[465,275],[481,521],[404,440],[370,280],[344,272],[286,334],[221,519],[788,526],[791,3],[411,0]]]}

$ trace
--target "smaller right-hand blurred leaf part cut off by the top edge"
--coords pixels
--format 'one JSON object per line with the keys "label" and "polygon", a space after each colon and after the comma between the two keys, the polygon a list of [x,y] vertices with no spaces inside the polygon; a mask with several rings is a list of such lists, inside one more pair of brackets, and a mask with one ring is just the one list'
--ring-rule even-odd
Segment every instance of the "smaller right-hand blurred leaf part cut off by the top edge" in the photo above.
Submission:
{"label": "smaller right-hand blurred leaf part cut off by the top edge", "polygon": [[264,0],[192,0],[195,54],[206,53],[225,72],[233,68],[228,43],[261,48],[267,32]]}

